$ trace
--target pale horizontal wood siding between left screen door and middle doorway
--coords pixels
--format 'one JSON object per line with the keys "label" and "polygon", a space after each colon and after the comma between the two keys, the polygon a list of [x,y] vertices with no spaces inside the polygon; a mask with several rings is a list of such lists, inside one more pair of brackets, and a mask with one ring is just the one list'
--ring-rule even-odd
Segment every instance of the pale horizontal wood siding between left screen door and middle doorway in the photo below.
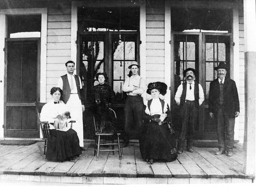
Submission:
{"label": "pale horizontal wood siding between left screen door and middle doorway", "polygon": [[50,89],[66,74],[65,63],[71,56],[71,6],[48,9],[47,30],[47,101]]}

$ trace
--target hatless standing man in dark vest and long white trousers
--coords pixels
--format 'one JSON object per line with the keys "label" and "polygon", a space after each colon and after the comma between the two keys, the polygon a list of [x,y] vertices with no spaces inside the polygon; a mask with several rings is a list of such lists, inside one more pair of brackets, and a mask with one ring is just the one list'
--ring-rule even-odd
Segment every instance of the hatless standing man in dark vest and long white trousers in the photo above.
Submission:
{"label": "hatless standing man in dark vest and long white trousers", "polygon": [[81,150],[85,151],[83,149],[82,122],[82,112],[85,110],[85,107],[83,101],[82,83],[80,77],[74,74],[75,62],[68,61],[65,65],[68,74],[59,78],[57,87],[60,87],[63,90],[63,101],[70,111],[72,120],[76,121],[72,128],[77,132]]}

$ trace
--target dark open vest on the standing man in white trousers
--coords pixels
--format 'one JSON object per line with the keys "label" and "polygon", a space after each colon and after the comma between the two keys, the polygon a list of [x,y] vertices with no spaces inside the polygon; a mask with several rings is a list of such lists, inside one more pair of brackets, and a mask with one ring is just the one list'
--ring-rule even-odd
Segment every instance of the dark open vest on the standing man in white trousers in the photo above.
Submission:
{"label": "dark open vest on the standing man in white trousers", "polygon": [[[68,80],[68,75],[63,75],[61,76],[62,82],[63,82],[63,102],[67,104],[69,98],[70,98],[70,85],[69,85],[69,80]],[[80,82],[79,82],[79,77],[75,75],[75,81],[76,81],[76,88],[77,88],[77,93],[78,97],[81,100],[81,93],[80,93]]]}

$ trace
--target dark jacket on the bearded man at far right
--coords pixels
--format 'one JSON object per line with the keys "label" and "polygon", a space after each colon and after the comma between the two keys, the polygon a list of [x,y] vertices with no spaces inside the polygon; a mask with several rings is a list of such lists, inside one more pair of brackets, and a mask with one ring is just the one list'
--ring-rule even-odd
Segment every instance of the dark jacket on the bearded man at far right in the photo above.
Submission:
{"label": "dark jacket on the bearded man at far right", "polygon": [[[210,83],[209,90],[209,112],[217,116],[218,104],[220,98],[220,83],[218,78]],[[236,82],[225,78],[223,84],[223,108],[224,114],[234,118],[235,112],[240,112],[238,90]]]}

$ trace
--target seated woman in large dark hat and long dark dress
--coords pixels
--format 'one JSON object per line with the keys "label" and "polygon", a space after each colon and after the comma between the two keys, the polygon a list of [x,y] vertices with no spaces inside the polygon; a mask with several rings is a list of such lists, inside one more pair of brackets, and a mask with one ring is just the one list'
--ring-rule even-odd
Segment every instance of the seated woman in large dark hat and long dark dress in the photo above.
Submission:
{"label": "seated woman in large dark hat and long dark dress", "polygon": [[[143,108],[143,130],[140,135],[141,156],[148,163],[163,159],[167,162],[177,158],[176,140],[170,124],[170,110],[167,103],[159,98],[166,93],[167,85],[162,82],[150,83],[147,93],[153,99]],[[168,128],[168,125],[170,128]]]}

